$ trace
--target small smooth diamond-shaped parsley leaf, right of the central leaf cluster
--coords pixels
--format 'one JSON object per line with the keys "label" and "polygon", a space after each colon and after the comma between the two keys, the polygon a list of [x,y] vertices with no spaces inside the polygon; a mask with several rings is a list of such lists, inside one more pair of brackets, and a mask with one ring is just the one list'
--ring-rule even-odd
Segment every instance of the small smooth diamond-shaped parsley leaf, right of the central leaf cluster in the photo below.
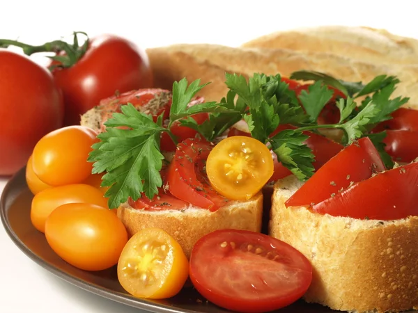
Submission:
{"label": "small smooth diamond-shaped parsley leaf, right of the central leaf cluster", "polygon": [[302,90],[299,95],[300,102],[310,116],[311,122],[316,122],[320,112],[324,109],[325,104],[327,104],[334,91],[327,88],[323,85],[322,81],[316,81],[308,88],[309,93],[306,90]]}

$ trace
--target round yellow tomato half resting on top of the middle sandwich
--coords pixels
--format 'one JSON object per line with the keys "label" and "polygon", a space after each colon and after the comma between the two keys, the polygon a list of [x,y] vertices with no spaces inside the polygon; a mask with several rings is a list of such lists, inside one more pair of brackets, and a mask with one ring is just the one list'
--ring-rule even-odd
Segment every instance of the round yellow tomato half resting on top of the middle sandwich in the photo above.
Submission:
{"label": "round yellow tomato half resting on top of the middle sandwich", "polygon": [[232,136],[220,141],[206,161],[210,184],[231,200],[248,200],[273,174],[270,150],[261,141]]}

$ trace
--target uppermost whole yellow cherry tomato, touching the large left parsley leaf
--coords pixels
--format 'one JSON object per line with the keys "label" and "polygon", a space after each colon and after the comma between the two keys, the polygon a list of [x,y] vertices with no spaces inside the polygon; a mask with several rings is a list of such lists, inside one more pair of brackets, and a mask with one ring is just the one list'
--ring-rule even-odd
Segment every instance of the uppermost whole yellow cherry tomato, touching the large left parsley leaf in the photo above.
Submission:
{"label": "uppermost whole yellow cherry tomato, touching the large left parsley leaf", "polygon": [[51,186],[79,184],[91,175],[87,161],[97,133],[84,126],[68,126],[43,136],[33,149],[33,171]]}

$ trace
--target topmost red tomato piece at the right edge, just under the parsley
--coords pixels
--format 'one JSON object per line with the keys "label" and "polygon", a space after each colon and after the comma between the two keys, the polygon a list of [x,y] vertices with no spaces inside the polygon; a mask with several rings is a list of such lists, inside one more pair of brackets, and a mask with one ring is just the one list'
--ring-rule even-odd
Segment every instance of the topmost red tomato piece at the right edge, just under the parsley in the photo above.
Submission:
{"label": "topmost red tomato piece at the right edge, just under the parsley", "polygon": [[418,131],[418,110],[399,108],[392,113],[392,120],[381,122],[373,132],[385,129]]}

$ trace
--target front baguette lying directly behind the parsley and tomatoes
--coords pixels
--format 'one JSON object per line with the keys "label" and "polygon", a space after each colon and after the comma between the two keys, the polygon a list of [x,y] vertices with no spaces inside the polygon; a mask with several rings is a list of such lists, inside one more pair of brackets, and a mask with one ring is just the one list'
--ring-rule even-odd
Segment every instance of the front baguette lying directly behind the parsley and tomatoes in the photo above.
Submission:
{"label": "front baguette lying directly behind the parsley and tomatoes", "polygon": [[408,95],[407,106],[418,109],[418,63],[415,65],[376,65],[334,54],[289,49],[233,48],[222,45],[171,45],[147,50],[157,87],[168,88],[183,77],[201,78],[210,85],[199,95],[219,101],[226,95],[224,73],[245,77],[255,72],[288,77],[298,70],[315,70],[346,81],[370,81],[381,74],[401,80],[393,97]]}

